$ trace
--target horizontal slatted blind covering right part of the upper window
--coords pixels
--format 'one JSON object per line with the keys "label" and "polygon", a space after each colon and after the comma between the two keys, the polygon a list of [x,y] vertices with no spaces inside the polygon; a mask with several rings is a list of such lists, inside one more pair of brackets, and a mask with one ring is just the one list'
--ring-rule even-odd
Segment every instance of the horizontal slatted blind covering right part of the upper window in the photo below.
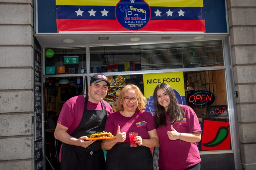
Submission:
{"label": "horizontal slatted blind covering right part of the upper window", "polygon": [[141,45],[141,70],[223,65],[222,41]]}

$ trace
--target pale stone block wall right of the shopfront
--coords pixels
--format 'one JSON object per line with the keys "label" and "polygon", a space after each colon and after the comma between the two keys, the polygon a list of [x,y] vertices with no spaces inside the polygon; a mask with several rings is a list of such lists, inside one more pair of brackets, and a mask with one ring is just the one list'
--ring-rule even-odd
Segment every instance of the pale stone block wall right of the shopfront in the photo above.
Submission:
{"label": "pale stone block wall right of the shopfront", "polygon": [[228,0],[240,152],[243,169],[256,169],[256,1]]}

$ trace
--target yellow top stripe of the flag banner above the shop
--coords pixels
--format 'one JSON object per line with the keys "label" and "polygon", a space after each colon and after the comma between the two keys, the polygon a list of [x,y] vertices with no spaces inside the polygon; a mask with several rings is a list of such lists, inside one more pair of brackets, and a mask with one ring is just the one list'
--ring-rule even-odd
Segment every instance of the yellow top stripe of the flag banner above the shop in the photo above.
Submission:
{"label": "yellow top stripe of the flag banner above the shop", "polygon": [[[118,2],[119,0],[56,0],[56,5],[116,6]],[[145,0],[145,2],[150,7],[203,7],[203,0]]]}

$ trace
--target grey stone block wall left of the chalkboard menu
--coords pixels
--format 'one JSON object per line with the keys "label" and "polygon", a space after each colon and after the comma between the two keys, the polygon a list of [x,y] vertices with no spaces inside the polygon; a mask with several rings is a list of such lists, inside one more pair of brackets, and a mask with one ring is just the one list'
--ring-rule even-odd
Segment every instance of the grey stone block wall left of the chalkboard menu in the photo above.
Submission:
{"label": "grey stone block wall left of the chalkboard menu", "polygon": [[32,0],[0,0],[0,169],[34,169]]}

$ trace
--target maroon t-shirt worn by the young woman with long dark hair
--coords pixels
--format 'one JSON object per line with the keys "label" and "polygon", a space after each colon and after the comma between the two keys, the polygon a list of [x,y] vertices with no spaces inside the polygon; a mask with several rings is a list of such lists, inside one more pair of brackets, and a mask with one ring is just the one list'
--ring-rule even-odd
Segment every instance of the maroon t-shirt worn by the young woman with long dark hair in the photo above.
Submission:
{"label": "maroon t-shirt worn by the young woman with long dark hair", "polygon": [[198,164],[201,159],[196,143],[183,140],[170,140],[167,131],[171,131],[171,125],[179,133],[202,132],[196,113],[189,106],[180,105],[185,112],[183,121],[168,124],[169,117],[166,115],[167,125],[157,128],[160,139],[159,168],[166,170],[186,169]]}

